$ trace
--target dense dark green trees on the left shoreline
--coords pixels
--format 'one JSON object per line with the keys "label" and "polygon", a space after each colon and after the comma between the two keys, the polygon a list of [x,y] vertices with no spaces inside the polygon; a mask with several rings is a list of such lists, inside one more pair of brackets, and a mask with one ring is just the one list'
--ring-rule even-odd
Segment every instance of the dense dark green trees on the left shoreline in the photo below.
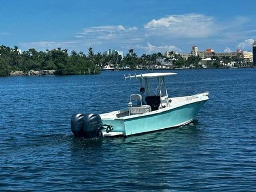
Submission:
{"label": "dense dark green trees on the left shoreline", "polygon": [[17,46],[0,46],[0,76],[8,76],[10,71],[30,70],[56,70],[57,75],[100,73],[102,58],[96,63],[96,56],[91,47],[88,57],[83,52],[77,54],[75,51],[68,55],[67,51],[60,47],[46,52],[30,48],[19,54]]}

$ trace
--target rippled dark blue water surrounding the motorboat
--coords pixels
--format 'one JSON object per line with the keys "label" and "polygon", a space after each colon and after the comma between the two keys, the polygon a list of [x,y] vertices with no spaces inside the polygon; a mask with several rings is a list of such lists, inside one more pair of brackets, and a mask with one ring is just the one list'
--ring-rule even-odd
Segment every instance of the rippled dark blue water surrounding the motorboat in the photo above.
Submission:
{"label": "rippled dark blue water surrounding the motorboat", "polygon": [[256,191],[256,69],[161,71],[169,96],[210,92],[191,124],[73,136],[73,114],[127,107],[123,75],[144,72],[0,77],[0,191]]}

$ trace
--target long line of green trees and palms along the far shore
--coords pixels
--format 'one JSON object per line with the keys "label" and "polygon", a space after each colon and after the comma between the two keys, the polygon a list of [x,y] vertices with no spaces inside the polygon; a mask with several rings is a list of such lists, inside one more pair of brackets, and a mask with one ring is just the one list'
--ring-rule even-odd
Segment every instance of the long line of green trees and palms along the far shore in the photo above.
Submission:
{"label": "long line of green trees and palms along the far shore", "polygon": [[[189,56],[188,59],[184,59],[173,51],[170,52],[168,58],[161,52],[143,54],[138,57],[133,49],[130,49],[124,58],[121,58],[117,52],[111,55],[104,55],[100,52],[94,54],[91,47],[88,49],[87,55],[76,51],[71,51],[69,55],[68,50],[62,50],[62,48],[46,51],[36,51],[34,48],[30,48],[20,54],[17,46],[10,48],[2,45],[0,46],[0,76],[9,76],[12,71],[28,72],[30,70],[55,70],[56,75],[100,73],[104,66],[111,66],[119,70],[124,68],[135,70],[137,67],[153,68],[160,65],[159,60],[172,63],[174,67],[202,68],[201,59],[200,56]],[[213,52],[211,59],[212,62],[209,63],[208,68],[225,67],[225,64],[231,61],[235,62],[238,67],[246,67],[246,62],[237,57],[218,58]],[[220,60],[222,60],[222,64]]]}

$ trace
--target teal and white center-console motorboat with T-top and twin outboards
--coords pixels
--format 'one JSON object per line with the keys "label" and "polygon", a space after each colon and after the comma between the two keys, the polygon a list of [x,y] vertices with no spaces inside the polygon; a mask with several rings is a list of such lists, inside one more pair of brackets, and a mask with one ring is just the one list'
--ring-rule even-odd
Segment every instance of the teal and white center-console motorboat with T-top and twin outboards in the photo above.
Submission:
{"label": "teal and white center-console motorboat with T-top and twin outboards", "polygon": [[[140,75],[124,75],[124,79],[136,79],[145,89],[146,105],[140,94],[132,94],[127,108],[96,115],[75,114],[71,117],[71,130],[76,137],[119,137],[143,134],[174,128],[192,122],[209,100],[209,92],[196,95],[169,97],[165,77],[172,72],[153,72]],[[155,80],[155,83],[154,83]],[[156,85],[153,87],[153,85]]]}

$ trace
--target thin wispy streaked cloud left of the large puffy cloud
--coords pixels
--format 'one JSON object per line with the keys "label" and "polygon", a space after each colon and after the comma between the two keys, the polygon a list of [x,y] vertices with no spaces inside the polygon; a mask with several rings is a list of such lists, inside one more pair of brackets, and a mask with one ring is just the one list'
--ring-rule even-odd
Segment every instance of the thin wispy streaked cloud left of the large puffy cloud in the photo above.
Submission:
{"label": "thin wispy streaked cloud left of the large puffy cloud", "polygon": [[81,32],[75,34],[75,38],[62,42],[38,41],[30,43],[21,43],[24,48],[34,47],[38,50],[51,50],[52,48],[68,48],[69,50],[87,50],[89,47],[98,48],[97,51],[115,48],[120,46],[131,46],[141,42],[140,36],[137,35],[137,27],[119,26],[97,26],[84,28]]}

